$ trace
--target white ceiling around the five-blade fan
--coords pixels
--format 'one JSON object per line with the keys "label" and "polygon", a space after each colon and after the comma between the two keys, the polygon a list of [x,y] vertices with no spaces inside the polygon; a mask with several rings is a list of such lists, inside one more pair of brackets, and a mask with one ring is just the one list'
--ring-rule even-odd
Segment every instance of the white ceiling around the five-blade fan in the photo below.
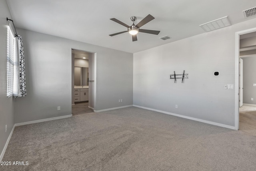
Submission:
{"label": "white ceiling around the five-blade fan", "polygon": [[[232,24],[244,18],[243,10],[256,6],[256,0],[6,0],[17,28],[135,53],[190,36],[204,33],[200,24],[228,16]],[[142,29],[160,30],[160,34],[139,32],[132,42],[126,27],[113,22],[116,18],[129,26],[148,14],[154,20]],[[226,28],[221,28],[226,29]],[[161,40],[162,36],[171,39]]]}

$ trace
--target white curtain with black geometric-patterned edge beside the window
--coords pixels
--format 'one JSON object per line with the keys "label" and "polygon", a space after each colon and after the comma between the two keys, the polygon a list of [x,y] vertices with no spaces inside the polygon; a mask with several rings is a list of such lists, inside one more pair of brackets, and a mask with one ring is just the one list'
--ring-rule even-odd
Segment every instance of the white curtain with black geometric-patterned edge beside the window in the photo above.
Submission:
{"label": "white curtain with black geometric-patterned edge beside the window", "polygon": [[26,92],[25,60],[22,37],[16,35],[14,49],[14,80],[13,96],[24,97]]}

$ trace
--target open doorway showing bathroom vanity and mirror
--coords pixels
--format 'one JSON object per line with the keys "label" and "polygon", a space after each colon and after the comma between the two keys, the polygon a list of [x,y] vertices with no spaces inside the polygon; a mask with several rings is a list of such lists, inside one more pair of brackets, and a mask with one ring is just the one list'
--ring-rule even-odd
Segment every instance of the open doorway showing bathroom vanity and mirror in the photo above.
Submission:
{"label": "open doorway showing bathroom vanity and mirror", "polygon": [[72,115],[94,112],[96,53],[72,49]]}

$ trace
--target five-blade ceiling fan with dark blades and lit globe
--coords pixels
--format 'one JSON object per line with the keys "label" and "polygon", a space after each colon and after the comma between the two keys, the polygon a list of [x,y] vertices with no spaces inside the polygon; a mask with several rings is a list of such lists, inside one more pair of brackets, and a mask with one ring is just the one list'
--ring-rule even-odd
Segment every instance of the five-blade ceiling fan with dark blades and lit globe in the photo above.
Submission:
{"label": "five-blade ceiling fan with dark blades and lit globe", "polygon": [[134,24],[134,21],[136,19],[137,19],[136,17],[132,16],[131,20],[132,20],[133,24],[132,24],[132,26],[128,26],[127,24],[124,24],[123,22],[117,20],[116,18],[110,18],[110,20],[127,27],[127,31],[110,34],[109,36],[116,36],[121,33],[129,32],[132,35],[132,42],[134,42],[134,41],[137,41],[137,33],[138,32],[156,34],[156,35],[158,35],[160,33],[160,31],[156,31],[156,30],[140,29],[141,26],[144,26],[145,24],[147,24],[148,22],[150,22],[151,20],[154,19],[154,17],[152,15],[148,14],[148,16],[146,16],[143,20],[141,20],[137,25]]}

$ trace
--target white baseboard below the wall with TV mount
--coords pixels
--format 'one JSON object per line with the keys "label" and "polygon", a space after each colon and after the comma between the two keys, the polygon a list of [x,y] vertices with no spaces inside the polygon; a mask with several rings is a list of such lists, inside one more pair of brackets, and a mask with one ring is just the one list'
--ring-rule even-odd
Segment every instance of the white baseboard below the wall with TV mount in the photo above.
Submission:
{"label": "white baseboard below the wall with TV mount", "polygon": [[133,106],[134,106],[134,107],[140,107],[140,108],[142,108],[142,109],[148,109],[148,110],[152,110],[152,111],[157,111],[157,112],[160,112],[160,113],[165,113],[165,114],[168,114],[168,115],[174,115],[174,116],[178,116],[178,117],[183,117],[183,118],[190,119],[190,120],[194,120],[194,121],[199,121],[199,122],[203,122],[203,123],[208,123],[208,124],[216,125],[216,126],[219,126],[219,127],[225,127],[225,128],[229,128],[229,129],[235,129],[235,127],[230,126],[230,125],[224,125],[224,124],[221,124],[221,123],[206,121],[206,120],[203,120],[203,119],[197,119],[197,118],[194,118],[194,117],[188,117],[188,116],[179,115],[179,114],[176,114],[176,113],[170,113],[170,112],[167,112],[167,111],[161,111],[161,110],[157,110],[157,109],[151,109],[151,108],[148,108],[148,107],[143,107],[143,106],[138,106],[138,105],[133,105]]}

